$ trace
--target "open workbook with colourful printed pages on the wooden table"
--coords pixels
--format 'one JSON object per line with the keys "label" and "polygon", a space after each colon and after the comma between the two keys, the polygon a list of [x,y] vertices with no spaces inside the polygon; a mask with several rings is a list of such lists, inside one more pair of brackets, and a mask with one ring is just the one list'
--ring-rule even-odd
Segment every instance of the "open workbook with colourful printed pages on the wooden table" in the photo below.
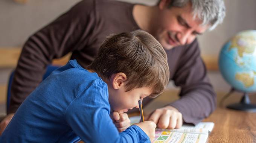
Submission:
{"label": "open workbook with colourful printed pages on the wooden table", "polygon": [[[140,122],[139,116],[130,117],[131,124]],[[156,129],[152,143],[206,143],[213,122],[200,122],[196,126],[183,125],[180,129]]]}

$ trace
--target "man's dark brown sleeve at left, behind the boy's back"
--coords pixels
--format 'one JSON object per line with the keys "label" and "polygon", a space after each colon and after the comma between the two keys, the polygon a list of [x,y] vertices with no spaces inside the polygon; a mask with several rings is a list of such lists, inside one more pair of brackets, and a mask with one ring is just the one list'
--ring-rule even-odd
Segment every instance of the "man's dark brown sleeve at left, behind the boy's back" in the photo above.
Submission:
{"label": "man's dark brown sleeve at left, behind the boy's back", "polygon": [[[90,1],[92,2],[92,1]],[[46,66],[54,58],[83,48],[95,25],[93,8],[82,1],[55,21],[34,33],[23,46],[11,86],[8,114],[15,113],[23,100],[42,81]]]}

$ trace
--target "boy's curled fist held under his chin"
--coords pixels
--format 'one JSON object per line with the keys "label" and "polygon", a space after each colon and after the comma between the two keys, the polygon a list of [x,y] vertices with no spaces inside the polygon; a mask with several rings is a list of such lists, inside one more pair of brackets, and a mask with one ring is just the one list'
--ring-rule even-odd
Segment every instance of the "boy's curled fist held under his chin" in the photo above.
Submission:
{"label": "boy's curled fist held under his chin", "polygon": [[110,114],[110,117],[119,132],[125,131],[125,129],[130,126],[131,121],[126,113],[119,114],[118,112],[113,111]]}

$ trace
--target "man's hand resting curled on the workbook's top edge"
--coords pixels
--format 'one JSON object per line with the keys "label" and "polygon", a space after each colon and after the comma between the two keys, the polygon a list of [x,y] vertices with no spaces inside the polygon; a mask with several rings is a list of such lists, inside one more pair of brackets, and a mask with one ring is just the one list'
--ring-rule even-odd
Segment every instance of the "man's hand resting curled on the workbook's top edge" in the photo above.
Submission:
{"label": "man's hand resting curled on the workbook's top edge", "polygon": [[148,118],[157,124],[158,128],[174,129],[182,126],[182,114],[172,106],[156,109]]}

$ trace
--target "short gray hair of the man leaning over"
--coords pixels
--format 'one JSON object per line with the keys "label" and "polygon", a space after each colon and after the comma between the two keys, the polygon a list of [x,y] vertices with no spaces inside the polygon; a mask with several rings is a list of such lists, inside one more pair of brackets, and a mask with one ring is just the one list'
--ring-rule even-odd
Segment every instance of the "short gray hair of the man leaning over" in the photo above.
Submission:
{"label": "short gray hair of the man leaning over", "polygon": [[202,20],[202,25],[210,24],[209,30],[213,30],[218,24],[221,24],[225,15],[226,8],[223,0],[172,0],[169,8],[172,6],[182,8],[190,2],[194,18]]}

